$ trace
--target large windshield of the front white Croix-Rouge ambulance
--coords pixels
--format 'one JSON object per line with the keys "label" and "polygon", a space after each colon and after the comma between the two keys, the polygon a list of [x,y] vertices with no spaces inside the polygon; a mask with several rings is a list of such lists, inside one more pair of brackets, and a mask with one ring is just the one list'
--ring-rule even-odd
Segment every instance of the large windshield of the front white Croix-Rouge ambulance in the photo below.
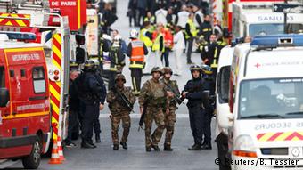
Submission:
{"label": "large windshield of the front white Croix-Rouge ambulance", "polygon": [[239,118],[303,118],[303,77],[245,80]]}

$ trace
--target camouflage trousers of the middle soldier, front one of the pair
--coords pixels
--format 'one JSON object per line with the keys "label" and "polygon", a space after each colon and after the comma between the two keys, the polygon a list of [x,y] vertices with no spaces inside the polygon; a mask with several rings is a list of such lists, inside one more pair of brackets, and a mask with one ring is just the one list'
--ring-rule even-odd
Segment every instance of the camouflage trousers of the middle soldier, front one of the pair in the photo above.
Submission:
{"label": "camouflage trousers of the middle soldier, front one of the pair", "polygon": [[[151,145],[158,146],[165,129],[164,119],[165,117],[161,107],[156,106],[146,108],[146,115],[144,118],[146,148],[150,148]],[[151,125],[153,120],[155,121],[157,128],[151,134]]]}

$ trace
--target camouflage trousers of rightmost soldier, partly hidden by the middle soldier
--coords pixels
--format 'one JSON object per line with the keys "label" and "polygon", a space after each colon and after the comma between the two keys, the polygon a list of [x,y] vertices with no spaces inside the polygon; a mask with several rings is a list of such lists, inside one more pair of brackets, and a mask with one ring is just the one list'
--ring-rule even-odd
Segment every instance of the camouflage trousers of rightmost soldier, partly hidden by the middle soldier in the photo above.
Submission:
{"label": "camouflage trousers of rightmost soldier, partly hidden by the middle soldier", "polygon": [[171,146],[171,140],[174,135],[175,123],[176,123],[176,107],[169,107],[169,114],[165,114],[165,128],[167,130],[165,134],[165,146]]}

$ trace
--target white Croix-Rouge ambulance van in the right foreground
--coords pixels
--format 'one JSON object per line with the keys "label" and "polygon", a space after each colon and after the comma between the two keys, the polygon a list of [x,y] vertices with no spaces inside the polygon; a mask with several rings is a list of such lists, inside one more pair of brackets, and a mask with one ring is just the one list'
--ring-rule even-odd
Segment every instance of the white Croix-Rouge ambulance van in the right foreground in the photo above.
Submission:
{"label": "white Croix-Rouge ambulance van in the right foreground", "polygon": [[303,36],[237,45],[230,81],[232,169],[303,169]]}

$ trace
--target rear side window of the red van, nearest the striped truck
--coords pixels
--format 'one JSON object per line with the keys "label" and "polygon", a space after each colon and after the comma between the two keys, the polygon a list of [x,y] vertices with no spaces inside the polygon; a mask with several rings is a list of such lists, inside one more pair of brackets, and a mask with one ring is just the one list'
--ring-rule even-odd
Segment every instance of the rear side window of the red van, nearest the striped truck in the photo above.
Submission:
{"label": "rear side window of the red van, nearest the striped truck", "polygon": [[42,67],[33,69],[33,82],[35,93],[45,93],[45,69]]}

